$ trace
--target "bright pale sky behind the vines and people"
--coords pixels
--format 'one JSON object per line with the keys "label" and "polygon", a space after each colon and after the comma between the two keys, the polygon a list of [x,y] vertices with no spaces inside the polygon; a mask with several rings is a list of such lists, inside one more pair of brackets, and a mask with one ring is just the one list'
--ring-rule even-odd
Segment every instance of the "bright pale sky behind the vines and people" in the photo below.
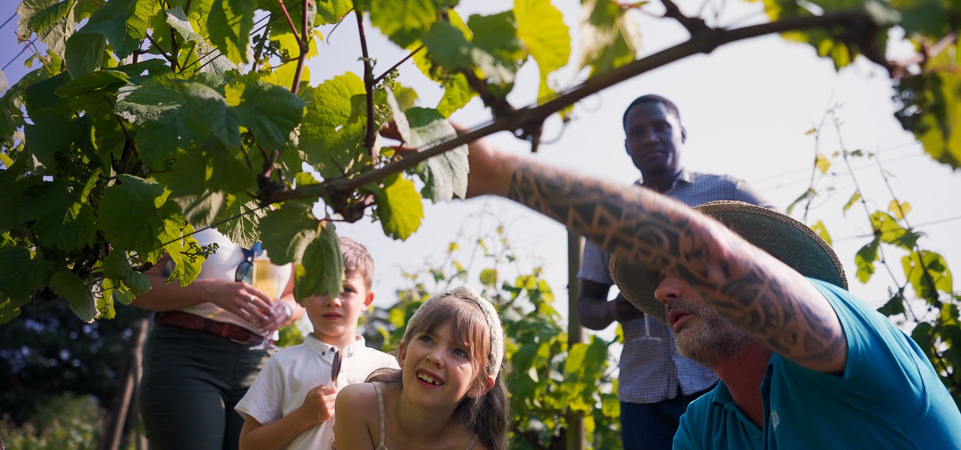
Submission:
{"label": "bright pale sky behind the vines and people", "polygon": [[[16,3],[3,2],[0,20],[12,14]],[[463,1],[456,10],[466,19],[472,13],[505,11],[511,3]],[[576,59],[579,1],[554,0],[553,3],[564,13],[564,20],[571,28],[572,60]],[[656,3],[648,7],[650,12],[658,14],[662,9]],[[715,19],[714,10],[722,5],[724,12]],[[701,8],[702,2],[683,1],[679,6],[683,12],[693,13]],[[759,3],[707,0],[704,11],[711,17],[710,25],[744,26],[764,20]],[[643,35],[644,48],[639,57],[667,48],[687,36],[670,19],[653,18],[640,12],[632,12],[630,19],[637,22]],[[15,19],[0,29],[0,55],[3,55],[0,64],[6,64],[20,51],[12,36],[14,22]],[[371,56],[378,62],[375,73],[380,74],[403,59],[406,52],[370,27],[369,21],[367,25]],[[331,28],[326,26],[321,30],[328,36]],[[308,61],[312,85],[346,71],[362,72],[357,61],[360,52],[353,17],[344,20],[333,36],[328,37],[329,42],[320,45],[320,56]],[[18,60],[22,59],[24,57]],[[14,62],[4,72],[15,82],[25,69]],[[577,80],[573,69],[562,70],[555,77],[562,85],[571,85]],[[434,107],[442,93],[410,62],[401,65],[400,81],[420,93],[419,106]],[[508,100],[515,107],[525,106],[533,101],[536,86],[537,71],[531,61],[521,70],[517,87]],[[562,135],[558,120],[548,123],[545,141],[560,137],[552,144],[543,144],[538,154],[530,154],[527,143],[509,133],[489,139],[512,153],[528,154],[548,164],[628,184],[638,173],[624,151],[621,117],[631,100],[648,93],[663,95],[678,105],[688,136],[681,152],[686,168],[743,178],[782,210],[807,189],[811,177],[815,139],[805,131],[819,124],[829,107],[840,105],[838,117],[842,121],[840,137],[844,148],[879,153],[878,159],[889,174],[894,193],[913,206],[907,218],[911,225],[925,233],[926,237],[919,241],[922,248],[941,252],[948,259],[949,267],[961,268],[961,240],[952,231],[961,223],[961,203],[951,200],[950,194],[961,192],[961,177],[926,156],[913,135],[901,130],[892,115],[895,104],[891,100],[890,80],[883,69],[864,59],[857,59],[838,73],[829,60],[817,58],[814,49],[806,44],[788,43],[778,36],[735,42],[710,55],[682,59],[588,97],[578,104],[576,119],[567,125]],[[489,118],[478,99],[453,117],[464,126],[474,126]],[[841,149],[841,144],[833,127],[826,128],[831,130],[822,134],[820,152],[830,156]],[[868,285],[854,278],[854,253],[870,240],[857,236],[870,234],[871,226],[860,205],[852,207],[847,217],[842,214],[842,207],[854,191],[855,180],[872,208],[887,209],[892,197],[874,159],[855,159],[851,166],[854,178],[848,175],[843,163],[838,163],[830,168],[830,172],[838,175],[825,177],[815,186],[823,192],[828,188],[833,190],[814,201],[806,222],[824,221],[834,240],[834,249],[849,272],[851,291],[879,306],[888,298],[888,286],[894,286],[892,278],[880,266]],[[381,225],[367,220],[338,225],[337,230],[371,250],[378,266],[375,302],[387,306],[396,301],[394,291],[407,286],[401,277],[402,268],[410,272],[422,267],[425,261],[442,261],[464,219],[485,205],[508,224],[509,239],[517,252],[532,256],[542,264],[557,296],[558,309],[566,310],[563,305],[567,285],[564,228],[509,201],[478,199],[438,205],[425,201],[424,224],[406,242],[384,237]],[[802,211],[802,206],[797,208],[794,216],[801,219]],[[492,227],[494,222],[486,220],[479,225]],[[477,228],[470,224],[467,229]],[[891,269],[899,283],[903,282],[900,268],[903,254],[900,250],[887,249]],[[478,283],[476,275],[472,275],[471,282]]]}

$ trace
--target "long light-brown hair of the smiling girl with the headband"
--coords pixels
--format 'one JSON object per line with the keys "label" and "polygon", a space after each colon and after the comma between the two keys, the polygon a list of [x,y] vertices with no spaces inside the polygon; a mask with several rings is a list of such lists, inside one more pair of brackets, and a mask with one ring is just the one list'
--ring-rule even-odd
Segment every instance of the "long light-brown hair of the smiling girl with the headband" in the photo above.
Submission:
{"label": "long light-brown hair of the smiling girl with the headband", "polygon": [[[451,335],[457,341],[466,343],[473,353],[477,371],[476,383],[481,377],[489,373],[495,364],[490,359],[490,330],[487,321],[480,311],[480,307],[473,301],[465,301],[456,296],[435,298],[423,306],[420,316],[414,326],[408,326],[404,332],[404,345],[417,333],[431,333],[443,324],[451,325]],[[482,364],[480,364],[482,362]],[[497,362],[500,363],[500,362]],[[494,380],[494,387],[479,397],[465,396],[454,410],[454,416],[473,432],[484,447],[490,450],[505,450],[507,448],[507,393],[499,370]],[[367,377],[367,382],[378,382],[387,385],[402,386],[404,369],[380,368]]]}

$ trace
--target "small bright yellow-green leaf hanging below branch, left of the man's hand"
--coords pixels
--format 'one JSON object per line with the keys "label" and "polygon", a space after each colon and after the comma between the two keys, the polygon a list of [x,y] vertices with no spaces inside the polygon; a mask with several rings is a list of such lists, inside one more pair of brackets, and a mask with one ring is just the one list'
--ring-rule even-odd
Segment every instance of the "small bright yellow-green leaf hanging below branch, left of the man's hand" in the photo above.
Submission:
{"label": "small bright yellow-green leaf hanging below branch, left of the man's hand", "polygon": [[394,174],[383,179],[383,189],[377,189],[374,196],[374,212],[381,220],[384,234],[404,241],[420,227],[424,205],[413,181]]}

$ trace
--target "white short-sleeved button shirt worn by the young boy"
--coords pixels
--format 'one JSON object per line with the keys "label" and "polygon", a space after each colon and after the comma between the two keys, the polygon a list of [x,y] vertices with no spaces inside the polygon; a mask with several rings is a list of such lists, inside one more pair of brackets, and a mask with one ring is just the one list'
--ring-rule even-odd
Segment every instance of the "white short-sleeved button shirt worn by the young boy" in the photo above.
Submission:
{"label": "white short-sleeved button shirt worn by the young boy", "polygon": [[[274,353],[250,390],[237,403],[236,411],[254,417],[263,425],[290,414],[304,404],[308,391],[331,384],[335,349],[310,334],[304,343]],[[340,375],[334,385],[337,391],[347,385],[363,383],[367,375],[378,368],[399,368],[397,358],[366,346],[360,336],[344,348],[340,356]],[[330,448],[332,440],[333,421],[328,420],[304,430],[284,448]]]}

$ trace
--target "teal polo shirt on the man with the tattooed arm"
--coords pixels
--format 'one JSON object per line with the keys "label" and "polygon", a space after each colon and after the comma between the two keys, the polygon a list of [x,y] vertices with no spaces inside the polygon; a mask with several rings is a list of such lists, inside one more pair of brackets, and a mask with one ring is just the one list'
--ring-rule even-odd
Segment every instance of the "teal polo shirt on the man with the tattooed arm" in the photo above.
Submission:
{"label": "teal polo shirt on the man with the tattooed arm", "polygon": [[675,449],[959,449],[961,413],[916,343],[849,292],[808,278],[844,327],[844,374],[776,353],[761,383],[764,429],[724,382],[680,418]]}

